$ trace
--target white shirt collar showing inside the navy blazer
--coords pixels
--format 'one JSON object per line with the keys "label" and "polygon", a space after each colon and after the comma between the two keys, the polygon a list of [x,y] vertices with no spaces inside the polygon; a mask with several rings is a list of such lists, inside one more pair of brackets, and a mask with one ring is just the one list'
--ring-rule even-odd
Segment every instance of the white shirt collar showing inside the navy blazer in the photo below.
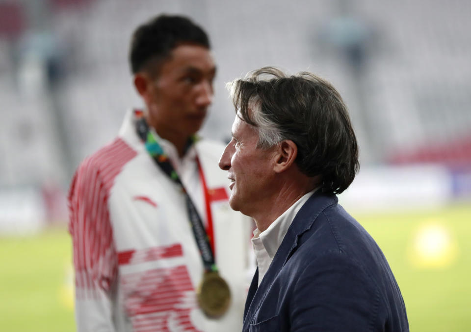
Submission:
{"label": "white shirt collar showing inside the navy blazer", "polygon": [[308,192],[298,199],[263,232],[260,232],[258,228],[255,229],[254,237],[252,237],[252,245],[254,246],[255,258],[257,259],[257,266],[259,267],[259,286],[283,238],[285,238],[294,217],[315,190],[316,189]]}

